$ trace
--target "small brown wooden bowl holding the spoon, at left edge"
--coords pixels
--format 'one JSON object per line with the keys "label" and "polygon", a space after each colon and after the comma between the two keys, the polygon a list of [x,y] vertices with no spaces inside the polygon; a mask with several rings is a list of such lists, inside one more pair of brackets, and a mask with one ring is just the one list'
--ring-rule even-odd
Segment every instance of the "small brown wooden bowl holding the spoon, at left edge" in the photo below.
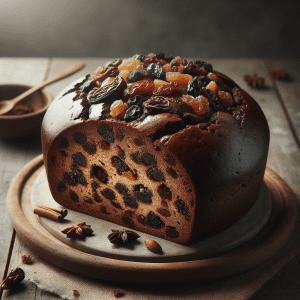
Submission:
{"label": "small brown wooden bowl holding the spoon, at left edge", "polygon": [[[0,101],[13,99],[30,88],[29,85],[2,84]],[[52,100],[48,91],[40,90],[18,103],[29,105],[33,108],[33,112],[22,115],[9,112],[0,115],[0,138],[19,138],[40,130],[44,114]]]}

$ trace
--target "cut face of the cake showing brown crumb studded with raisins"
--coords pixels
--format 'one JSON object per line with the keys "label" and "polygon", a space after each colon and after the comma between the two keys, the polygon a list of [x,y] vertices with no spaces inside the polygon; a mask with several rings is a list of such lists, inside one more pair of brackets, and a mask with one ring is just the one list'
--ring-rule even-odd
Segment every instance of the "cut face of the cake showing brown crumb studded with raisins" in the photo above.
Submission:
{"label": "cut face of the cake showing brown crumb studded with raisins", "polygon": [[191,239],[194,185],[178,159],[138,129],[75,124],[54,139],[45,166],[62,206],[176,243]]}

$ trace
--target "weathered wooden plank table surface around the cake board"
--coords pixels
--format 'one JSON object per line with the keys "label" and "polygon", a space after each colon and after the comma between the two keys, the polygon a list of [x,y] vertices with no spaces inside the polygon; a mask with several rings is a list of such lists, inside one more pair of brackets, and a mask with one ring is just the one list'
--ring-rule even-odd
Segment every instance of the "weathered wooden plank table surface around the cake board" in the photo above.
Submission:
{"label": "weathered wooden plank table surface around the cake board", "polygon": [[[55,97],[67,84],[92,72],[111,59],[83,59],[86,67],[78,73],[46,87]],[[79,61],[67,58],[0,58],[0,84],[20,83],[37,85],[63,68]],[[214,69],[234,79],[260,104],[270,126],[271,141],[267,165],[300,195],[300,62],[263,59],[206,59]],[[270,70],[281,67],[290,81],[275,81]],[[243,80],[245,74],[265,78],[265,89],[253,89]],[[7,192],[16,174],[41,153],[40,136],[19,140],[0,139],[0,270],[1,277],[11,270],[14,262],[26,254],[16,236],[6,211]],[[0,277],[0,278],[1,278]],[[59,299],[43,292],[33,284],[17,294],[4,291],[0,299]],[[300,299],[300,255],[292,259],[251,299]]]}

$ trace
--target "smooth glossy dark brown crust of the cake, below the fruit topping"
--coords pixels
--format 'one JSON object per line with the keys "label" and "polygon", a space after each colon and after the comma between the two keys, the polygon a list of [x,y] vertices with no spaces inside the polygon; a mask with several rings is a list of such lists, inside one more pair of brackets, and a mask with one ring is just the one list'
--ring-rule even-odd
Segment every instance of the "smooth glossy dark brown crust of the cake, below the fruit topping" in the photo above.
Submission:
{"label": "smooth glossy dark brown crust of the cake, below the fruit topping", "polygon": [[[192,239],[224,230],[252,207],[261,188],[268,155],[269,128],[259,105],[230,78],[215,73],[242,95],[242,122],[229,113],[218,112],[211,124],[188,125],[155,141],[156,146],[165,147],[180,161],[194,183],[197,205]],[[45,115],[42,142],[46,168],[48,151],[56,137],[75,123],[85,122],[73,120],[73,103],[72,94],[57,98]],[[132,125],[151,138],[159,126],[165,126],[166,120],[180,121],[169,114],[152,118],[159,122]]]}

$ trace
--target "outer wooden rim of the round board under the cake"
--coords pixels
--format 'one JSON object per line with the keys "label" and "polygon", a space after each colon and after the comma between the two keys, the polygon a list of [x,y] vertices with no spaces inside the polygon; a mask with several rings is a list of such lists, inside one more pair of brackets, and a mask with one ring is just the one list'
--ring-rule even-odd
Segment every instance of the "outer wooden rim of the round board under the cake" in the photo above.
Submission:
{"label": "outer wooden rim of the round board under the cake", "polygon": [[[225,254],[184,262],[149,263],[87,254],[49,235],[38,218],[29,218],[32,186],[43,168],[42,155],[29,162],[15,177],[8,193],[8,213],[18,236],[50,263],[87,277],[142,284],[185,283],[235,275],[263,263],[287,242],[296,224],[297,202],[291,189],[267,168],[265,183],[272,211],[264,228],[250,241]],[[30,219],[30,220],[29,220]]]}

